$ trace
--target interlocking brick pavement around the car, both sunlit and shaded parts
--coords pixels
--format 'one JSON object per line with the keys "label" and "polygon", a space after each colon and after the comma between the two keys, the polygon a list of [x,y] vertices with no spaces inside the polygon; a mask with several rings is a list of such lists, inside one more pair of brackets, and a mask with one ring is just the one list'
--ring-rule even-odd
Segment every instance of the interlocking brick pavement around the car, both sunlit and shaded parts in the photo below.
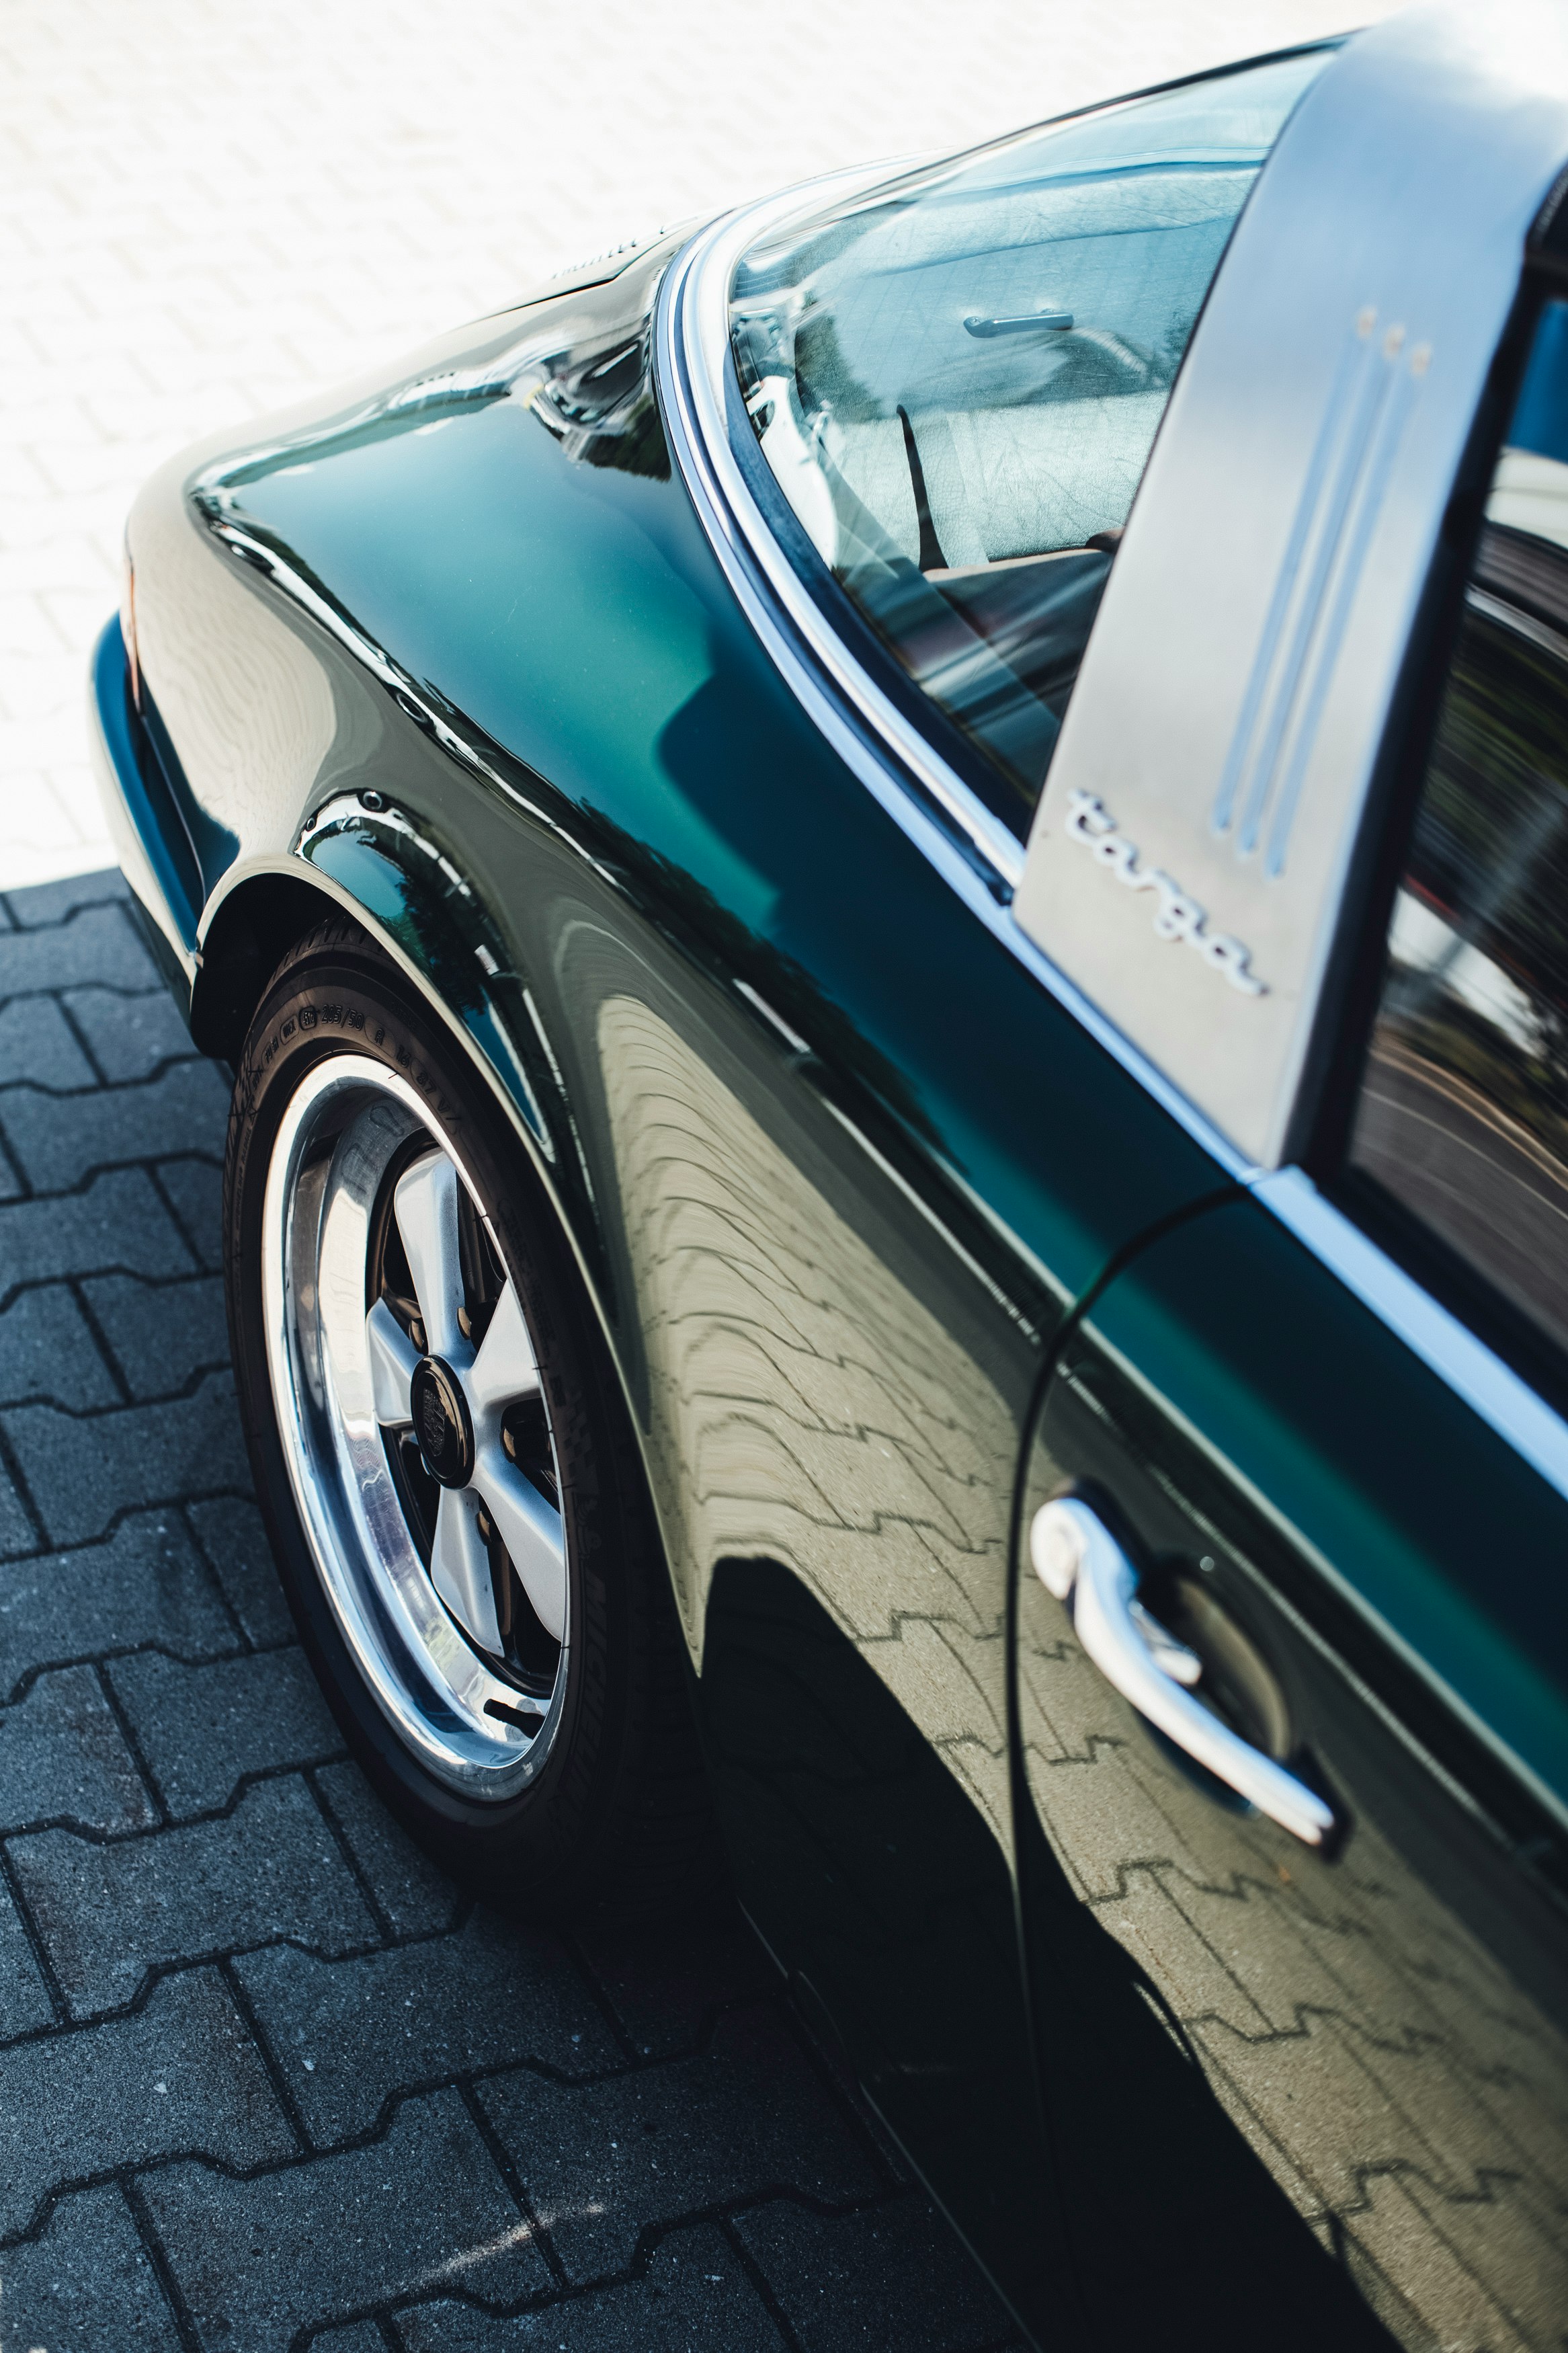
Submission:
{"label": "interlocking brick pavement around the car, both sunlit and shaded parts", "polygon": [[92,873],[85,661],[193,435],[661,221],[1335,14],[0,0],[7,2353],[1011,2341],[733,1918],[505,1927],[341,1755],[247,1499],[226,1082]]}

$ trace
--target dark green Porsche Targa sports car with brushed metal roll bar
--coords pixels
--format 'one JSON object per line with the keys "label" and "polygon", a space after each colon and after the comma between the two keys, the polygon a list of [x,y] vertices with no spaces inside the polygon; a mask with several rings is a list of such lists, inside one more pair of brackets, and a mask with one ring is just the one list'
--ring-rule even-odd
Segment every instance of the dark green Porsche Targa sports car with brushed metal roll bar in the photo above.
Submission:
{"label": "dark green Porsche Targa sports car with brushed metal roll bar", "polygon": [[1568,2329],[1568,12],[628,249],[94,656],[336,1715],[1039,2346]]}

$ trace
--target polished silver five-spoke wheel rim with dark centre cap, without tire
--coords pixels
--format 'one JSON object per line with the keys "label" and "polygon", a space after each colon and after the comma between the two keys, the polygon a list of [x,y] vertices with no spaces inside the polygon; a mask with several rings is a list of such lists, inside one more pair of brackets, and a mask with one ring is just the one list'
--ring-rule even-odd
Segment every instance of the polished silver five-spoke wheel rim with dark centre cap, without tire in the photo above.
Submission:
{"label": "polished silver five-spoke wheel rim with dark centre cap, without tire", "polygon": [[428,1772],[510,1798],[567,1687],[555,1438],[477,1186],[367,1054],[327,1056],[289,1099],[261,1280],[289,1482],[353,1661]]}

